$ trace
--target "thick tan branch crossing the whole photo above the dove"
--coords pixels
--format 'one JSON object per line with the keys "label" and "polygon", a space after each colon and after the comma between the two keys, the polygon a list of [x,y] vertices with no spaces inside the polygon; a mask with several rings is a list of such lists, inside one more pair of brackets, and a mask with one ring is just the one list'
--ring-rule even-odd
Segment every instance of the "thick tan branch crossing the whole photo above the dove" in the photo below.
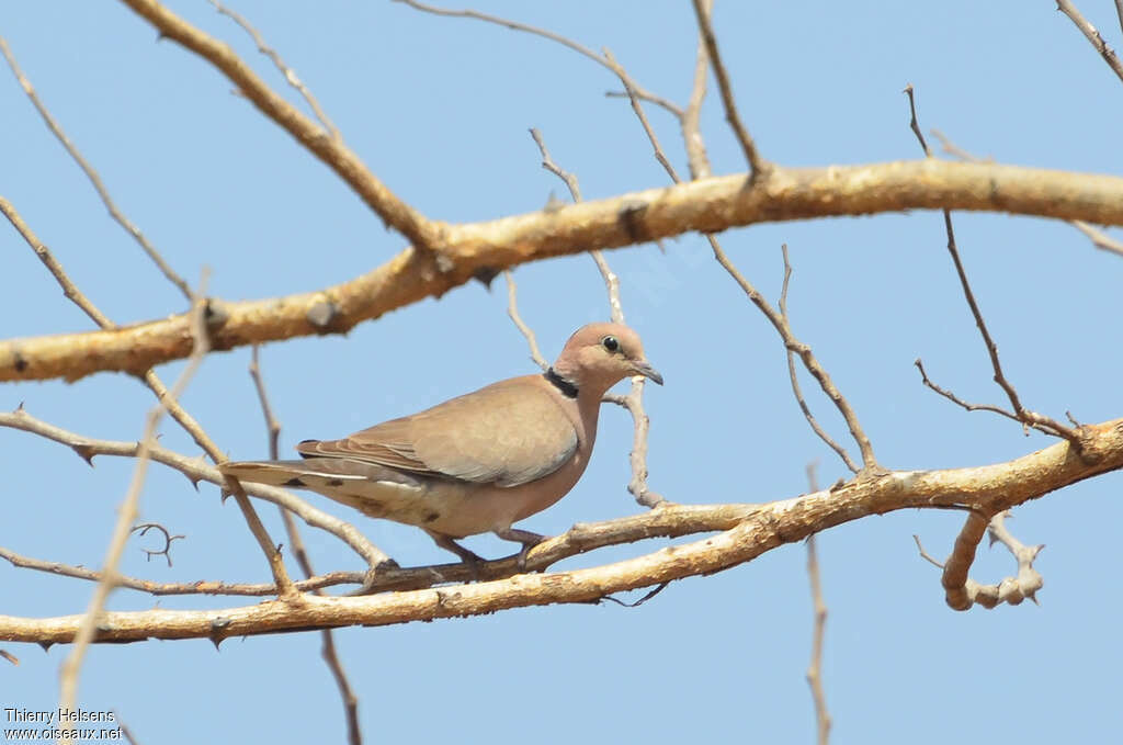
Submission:
{"label": "thick tan branch crossing the whole photo above the dove", "polygon": [[[431,252],[405,249],[378,269],[318,292],[211,301],[216,349],[343,333],[464,284],[484,269],[778,220],[906,209],[990,210],[1123,225],[1123,179],[977,163],[920,162],[773,167],[754,185],[731,175],[584,201],[553,211],[449,226],[440,271]],[[0,382],[143,372],[191,351],[186,317],[112,331],[0,342]]]}

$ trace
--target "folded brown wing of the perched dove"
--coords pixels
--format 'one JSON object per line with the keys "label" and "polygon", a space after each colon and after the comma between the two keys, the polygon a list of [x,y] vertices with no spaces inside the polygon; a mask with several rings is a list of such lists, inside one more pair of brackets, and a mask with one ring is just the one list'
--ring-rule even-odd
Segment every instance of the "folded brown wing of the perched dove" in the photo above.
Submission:
{"label": "folded brown wing of the perched dove", "polygon": [[344,457],[418,474],[518,487],[557,471],[577,431],[537,375],[502,381],[410,417],[336,440],[296,446],[305,457]]}

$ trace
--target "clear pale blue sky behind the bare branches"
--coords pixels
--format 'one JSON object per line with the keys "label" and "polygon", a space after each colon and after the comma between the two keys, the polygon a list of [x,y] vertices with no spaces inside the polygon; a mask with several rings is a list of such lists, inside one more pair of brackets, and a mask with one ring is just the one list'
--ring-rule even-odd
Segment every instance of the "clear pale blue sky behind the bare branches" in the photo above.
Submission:
{"label": "clear pale blue sky behind the bare branches", "polygon": [[[1111,3],[1084,11],[1120,46]],[[202,0],[170,3],[230,43],[276,90],[293,92],[229,19]],[[720,2],[719,40],[742,117],[764,155],[785,165],[915,158],[906,83],[925,129],[998,162],[1120,173],[1123,88],[1052,2]],[[350,145],[429,217],[477,221],[537,210],[564,194],[539,167],[538,127],[586,199],[664,185],[627,102],[605,98],[613,76],[540,38],[391,2],[231,4],[313,90]],[[685,102],[695,28],[687,2],[486,2],[477,9],[537,24],[615,57],[650,90]],[[115,199],[192,282],[237,300],[303,292],[389,260],[403,239],[291,137],[263,119],[209,65],[119,3],[40,0],[0,7],[0,34]],[[0,74],[4,137],[0,193],[111,318],[181,312],[181,296],[108,219],[84,176],[43,126],[15,79]],[[685,172],[675,124],[650,109]],[[703,115],[715,173],[743,171],[716,96]],[[1123,260],[1072,228],[1003,215],[957,215],[957,238],[1007,374],[1031,408],[1084,421],[1121,416],[1115,318]],[[787,243],[789,306],[800,337],[856,407],[880,462],[935,469],[1006,461],[1044,447],[1012,423],[967,414],[925,390],[913,360],[964,398],[1002,403],[962,301],[934,212],[761,225],[722,236],[770,298]],[[764,317],[712,261],[703,239],[611,252],[629,322],[665,388],[648,387],[651,487],[678,502],[768,501],[805,491],[819,461],[829,483],[841,463],[807,428],[788,390],[783,349]],[[0,230],[0,338],[83,330],[35,255]],[[577,326],[608,317],[587,256],[520,267],[523,318],[555,355]],[[248,349],[207,360],[183,401],[237,458],[265,454]],[[505,292],[472,284],[366,322],[346,337],[266,346],[262,363],[284,427],[282,449],[416,411],[494,380],[530,372],[505,316]],[[159,369],[171,381],[182,364]],[[654,390],[652,390],[654,389]],[[844,427],[804,381],[837,437]],[[150,394],[100,374],[0,388],[0,409],[24,402],[58,426],[135,439]],[[624,490],[630,421],[601,418],[596,454],[578,487],[522,524],[548,534],[639,507]],[[162,443],[197,448],[171,424]],[[849,445],[849,443],[847,443]],[[851,451],[855,448],[851,447]],[[131,463],[69,451],[0,429],[4,506],[0,545],[97,566]],[[837,743],[1049,743],[1099,738],[1123,724],[1115,643],[1123,612],[1110,546],[1123,519],[1111,474],[1015,511],[1010,527],[1048,545],[1041,606],[956,614],[912,535],[946,555],[961,517],[903,511],[820,536],[830,608],[824,683]],[[311,496],[318,507],[353,517]],[[261,512],[275,536],[272,506]],[[146,520],[185,534],[174,566],[130,544],[124,571],[161,581],[264,581],[267,569],[234,503],[197,493],[154,466]],[[446,561],[422,533],[354,516],[403,564]],[[359,569],[334,538],[304,530],[320,571]],[[592,565],[654,551],[648,542],[570,560]],[[506,546],[469,540],[487,555]],[[676,582],[636,609],[532,608],[482,618],[345,629],[337,644],[359,698],[365,742],[457,738],[541,743],[748,739],[811,742],[803,679],[812,614],[802,545],[716,576]],[[973,575],[1012,572],[980,549]],[[0,566],[0,612],[55,616],[85,608],[92,585]],[[238,599],[159,598],[119,591],[115,609],[221,608]],[[112,708],[140,742],[203,738],[338,742],[339,696],[318,635],[94,647],[81,703]],[[0,709],[49,709],[65,648],[3,644]],[[969,735],[966,735],[969,733]]]}

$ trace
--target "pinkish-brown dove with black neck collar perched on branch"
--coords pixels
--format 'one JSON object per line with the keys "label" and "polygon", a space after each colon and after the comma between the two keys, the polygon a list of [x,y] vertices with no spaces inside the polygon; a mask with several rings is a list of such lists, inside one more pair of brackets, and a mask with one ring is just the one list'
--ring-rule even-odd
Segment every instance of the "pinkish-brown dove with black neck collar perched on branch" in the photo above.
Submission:
{"label": "pinkish-brown dove with black neck collar perched on branch", "polygon": [[593,452],[601,398],[632,375],[663,384],[636,331],[590,324],[544,374],[503,380],[343,439],[305,439],[296,445],[303,460],[218,467],[239,481],[310,489],[369,517],[414,525],[467,563],[480,557],[455,538],[494,533],[522,544],[522,562],[544,536],[512,524],[573,489]]}

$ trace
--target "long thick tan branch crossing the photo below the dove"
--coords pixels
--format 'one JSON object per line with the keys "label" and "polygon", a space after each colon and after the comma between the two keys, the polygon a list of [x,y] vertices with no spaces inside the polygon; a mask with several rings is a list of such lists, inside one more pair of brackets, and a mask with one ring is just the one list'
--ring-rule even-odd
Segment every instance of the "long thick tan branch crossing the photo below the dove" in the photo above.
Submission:
{"label": "long thick tan branch crossing the photo below the dove", "polygon": [[[1083,427],[1083,447],[1068,442],[1007,463],[943,471],[903,471],[859,478],[837,489],[760,506],[736,527],[693,543],[593,569],[455,588],[348,598],[310,596],[300,605],[267,601],[217,610],[144,610],[107,614],[100,642],[209,638],[341,626],[385,626],[476,616],[517,607],[587,602],[612,592],[719,572],[752,561],[785,543],[836,525],[898,509],[962,506],[997,514],[1084,479],[1123,467],[1123,419]],[[665,508],[666,509],[666,508]],[[664,509],[648,515],[659,517]],[[645,516],[647,517],[647,516]],[[528,556],[528,564],[537,546]],[[514,561],[512,558],[512,561]],[[80,616],[0,616],[0,639],[67,643]]]}

